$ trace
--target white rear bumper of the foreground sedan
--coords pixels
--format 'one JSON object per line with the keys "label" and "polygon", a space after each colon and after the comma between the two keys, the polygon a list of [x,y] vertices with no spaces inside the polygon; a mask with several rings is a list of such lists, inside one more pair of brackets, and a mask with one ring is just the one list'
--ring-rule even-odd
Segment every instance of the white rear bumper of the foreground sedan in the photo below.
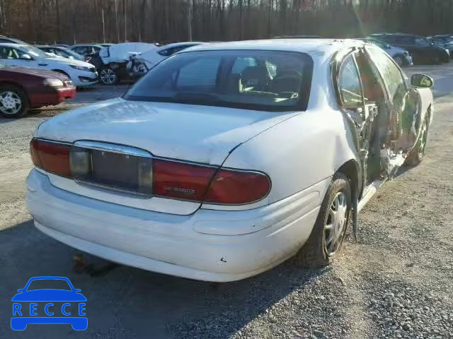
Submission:
{"label": "white rear bumper of the foreground sedan", "polygon": [[[26,201],[39,230],[76,249],[145,270],[225,282],[256,275],[294,255],[311,233],[321,190],[316,194],[316,187],[310,188],[253,210],[173,215],[79,196],[52,186],[47,175],[33,169]],[[239,234],[210,232],[209,224],[218,222]]]}

